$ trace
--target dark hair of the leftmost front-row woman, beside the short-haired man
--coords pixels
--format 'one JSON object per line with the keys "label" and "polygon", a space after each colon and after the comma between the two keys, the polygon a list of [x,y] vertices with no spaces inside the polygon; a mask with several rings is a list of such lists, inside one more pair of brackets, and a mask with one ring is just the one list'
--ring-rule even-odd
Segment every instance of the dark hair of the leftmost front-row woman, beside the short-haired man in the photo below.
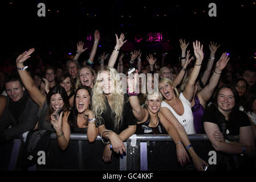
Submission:
{"label": "dark hair of the leftmost front-row woman, beside the short-haired man", "polygon": [[50,89],[49,93],[47,94],[46,100],[48,105],[48,111],[46,115],[46,121],[51,121],[51,114],[54,113],[54,109],[51,107],[51,96],[54,94],[60,94],[63,100],[63,111],[67,111],[68,107],[70,107],[70,101],[68,100],[67,92],[62,86],[54,86]]}

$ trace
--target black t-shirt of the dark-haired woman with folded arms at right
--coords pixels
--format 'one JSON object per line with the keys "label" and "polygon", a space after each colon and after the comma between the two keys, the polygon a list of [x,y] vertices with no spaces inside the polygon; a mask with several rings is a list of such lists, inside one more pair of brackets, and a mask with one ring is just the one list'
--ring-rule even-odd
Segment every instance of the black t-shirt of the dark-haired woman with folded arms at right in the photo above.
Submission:
{"label": "black t-shirt of the dark-haired woman with folded arms at right", "polygon": [[[228,130],[227,135],[239,135],[240,127],[251,126],[251,122],[247,115],[242,111],[236,113],[236,117],[231,121],[226,121],[225,116],[218,110],[206,109],[204,116],[202,117],[203,122],[216,123],[220,128],[221,132],[226,134],[225,128]],[[225,127],[226,126],[226,127]],[[224,138],[226,139],[225,135]]]}

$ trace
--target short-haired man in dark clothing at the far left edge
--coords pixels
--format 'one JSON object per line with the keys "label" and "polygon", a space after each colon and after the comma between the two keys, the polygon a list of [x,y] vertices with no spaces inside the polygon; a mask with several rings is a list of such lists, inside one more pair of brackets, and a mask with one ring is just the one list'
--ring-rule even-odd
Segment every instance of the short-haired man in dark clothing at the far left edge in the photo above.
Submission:
{"label": "short-haired man in dark clothing at the far left edge", "polygon": [[[32,101],[19,77],[5,83],[6,107],[0,117],[0,142],[13,139],[34,129],[38,121],[39,106]],[[11,126],[11,127],[10,127]]]}

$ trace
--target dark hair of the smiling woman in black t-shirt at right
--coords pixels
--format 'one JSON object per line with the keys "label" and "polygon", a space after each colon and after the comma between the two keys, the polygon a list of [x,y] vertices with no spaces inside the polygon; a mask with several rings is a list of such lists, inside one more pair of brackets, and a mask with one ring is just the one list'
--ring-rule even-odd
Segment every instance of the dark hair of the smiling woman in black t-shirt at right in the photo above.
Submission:
{"label": "dark hair of the smiling woman in black t-shirt at right", "polygon": [[233,118],[237,117],[237,113],[239,111],[239,106],[241,106],[239,93],[237,92],[237,89],[234,88],[234,86],[232,86],[230,84],[224,84],[217,90],[217,92],[214,96],[214,107],[215,107],[215,109],[218,110],[218,94],[220,93],[221,89],[224,89],[224,88],[230,89],[235,98],[235,106],[229,113],[230,120],[233,120]]}

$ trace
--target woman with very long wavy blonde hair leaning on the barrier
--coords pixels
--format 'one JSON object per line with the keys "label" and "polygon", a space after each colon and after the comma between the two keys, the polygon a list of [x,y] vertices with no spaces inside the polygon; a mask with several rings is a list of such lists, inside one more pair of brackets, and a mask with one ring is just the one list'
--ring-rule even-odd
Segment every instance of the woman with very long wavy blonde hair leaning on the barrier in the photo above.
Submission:
{"label": "woman with very long wavy blonde hair leaning on the barrier", "polygon": [[92,93],[92,110],[99,126],[99,135],[108,141],[103,151],[103,160],[110,162],[110,146],[117,154],[123,154],[126,151],[123,141],[135,133],[137,120],[128,97],[122,92],[116,69],[100,69]]}

